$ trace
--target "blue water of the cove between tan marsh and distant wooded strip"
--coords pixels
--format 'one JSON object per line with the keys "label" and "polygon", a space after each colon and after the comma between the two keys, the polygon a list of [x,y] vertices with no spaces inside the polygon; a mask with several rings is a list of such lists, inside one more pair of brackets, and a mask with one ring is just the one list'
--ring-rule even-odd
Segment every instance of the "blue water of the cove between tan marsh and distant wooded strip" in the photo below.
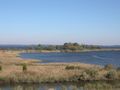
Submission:
{"label": "blue water of the cove between tan marsh and distant wooded strip", "polygon": [[120,51],[80,52],[80,53],[22,53],[25,59],[40,59],[49,62],[82,62],[98,65],[120,65]]}

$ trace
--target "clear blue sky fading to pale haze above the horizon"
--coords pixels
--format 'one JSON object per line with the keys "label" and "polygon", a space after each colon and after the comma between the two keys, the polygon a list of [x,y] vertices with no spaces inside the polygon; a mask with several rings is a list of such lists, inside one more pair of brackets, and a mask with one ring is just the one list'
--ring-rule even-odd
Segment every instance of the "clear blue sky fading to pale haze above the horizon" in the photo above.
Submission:
{"label": "clear blue sky fading to pale haze above the horizon", "polygon": [[0,44],[120,45],[120,0],[0,0]]}

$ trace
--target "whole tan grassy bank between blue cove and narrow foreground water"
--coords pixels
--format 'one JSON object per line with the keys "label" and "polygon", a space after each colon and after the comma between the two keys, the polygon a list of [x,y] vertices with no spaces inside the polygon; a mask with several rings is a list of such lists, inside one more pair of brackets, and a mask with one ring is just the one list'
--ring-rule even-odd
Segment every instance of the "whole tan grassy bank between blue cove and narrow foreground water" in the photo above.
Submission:
{"label": "whole tan grassy bank between blue cove and narrow foreground water", "polygon": [[83,63],[38,64],[37,60],[23,60],[17,51],[0,51],[1,83],[46,83],[120,80],[120,69]]}

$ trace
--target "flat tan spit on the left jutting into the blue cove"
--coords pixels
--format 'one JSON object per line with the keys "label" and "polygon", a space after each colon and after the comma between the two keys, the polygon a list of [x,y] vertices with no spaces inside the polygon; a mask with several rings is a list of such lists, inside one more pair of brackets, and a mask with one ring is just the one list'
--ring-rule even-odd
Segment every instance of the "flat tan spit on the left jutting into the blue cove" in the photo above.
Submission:
{"label": "flat tan spit on the left jutting into the blue cove", "polygon": [[40,62],[41,60],[27,59],[24,60],[19,57],[19,54],[24,51],[0,51],[0,64],[3,65],[12,65],[12,64],[32,64]]}

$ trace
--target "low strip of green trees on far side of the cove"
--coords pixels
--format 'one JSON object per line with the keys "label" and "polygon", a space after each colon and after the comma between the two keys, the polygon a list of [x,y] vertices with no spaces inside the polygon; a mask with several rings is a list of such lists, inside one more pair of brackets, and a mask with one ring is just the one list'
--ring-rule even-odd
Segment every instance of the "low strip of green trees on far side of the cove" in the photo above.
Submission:
{"label": "low strip of green trees on far side of the cove", "polygon": [[36,50],[61,50],[61,51],[77,51],[85,49],[100,49],[99,46],[95,45],[80,45],[78,43],[64,43],[64,45],[38,45],[35,47]]}

